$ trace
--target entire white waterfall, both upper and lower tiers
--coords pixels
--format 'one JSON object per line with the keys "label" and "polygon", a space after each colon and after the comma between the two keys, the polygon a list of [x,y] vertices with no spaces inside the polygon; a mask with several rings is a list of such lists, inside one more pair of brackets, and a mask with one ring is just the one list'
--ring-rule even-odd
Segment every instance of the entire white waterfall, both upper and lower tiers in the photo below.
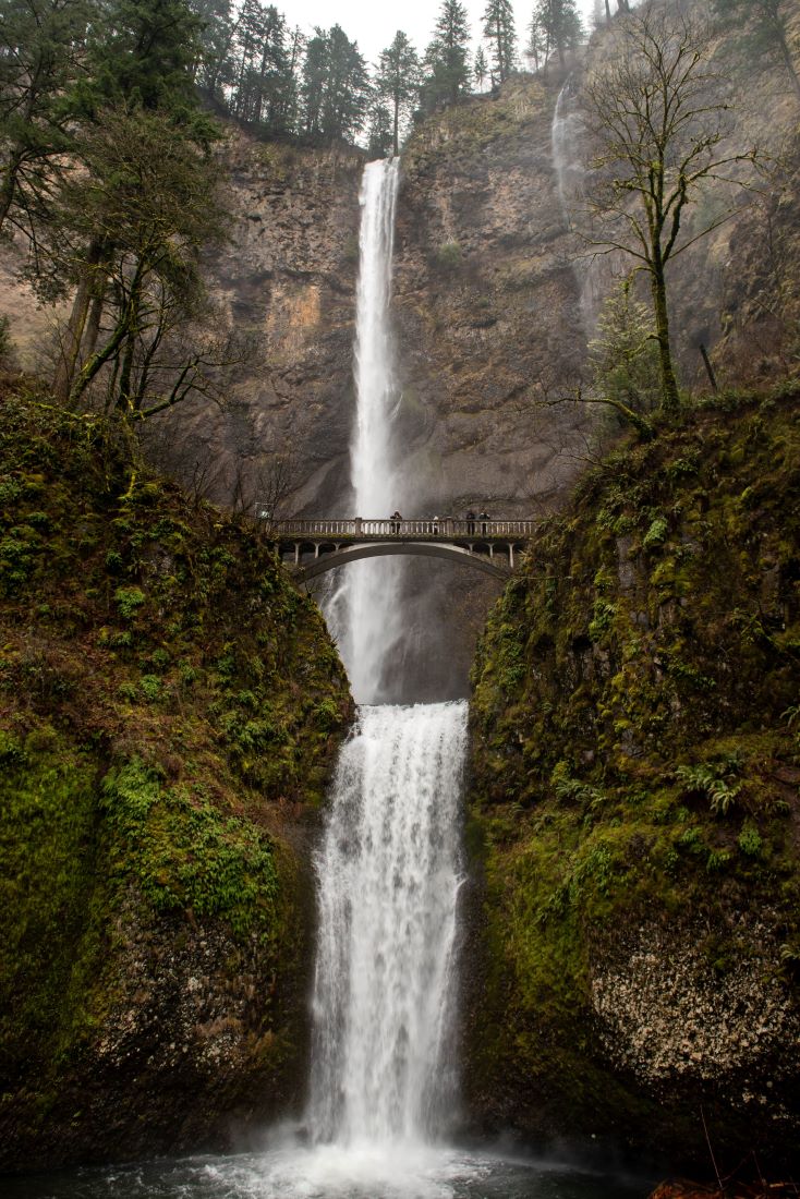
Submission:
{"label": "entire white waterfall, both upper and lower tiers", "polygon": [[[389,307],[398,163],[365,168],[356,309],[357,516],[398,506]],[[349,566],[332,617],[353,691],[374,704],[402,634],[391,558]],[[422,1144],[452,1107],[464,703],[360,709],[317,856],[319,946],[308,1127],[317,1144]]]}

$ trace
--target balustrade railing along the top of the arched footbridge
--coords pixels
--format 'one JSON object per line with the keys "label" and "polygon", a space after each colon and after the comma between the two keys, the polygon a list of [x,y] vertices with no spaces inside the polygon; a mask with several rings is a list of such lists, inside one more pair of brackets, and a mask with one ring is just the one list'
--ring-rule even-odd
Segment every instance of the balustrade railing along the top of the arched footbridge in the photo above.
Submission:
{"label": "balustrade railing along the top of the arched footbridge", "polygon": [[[257,514],[263,520],[270,520],[267,511],[259,508]],[[482,520],[476,517],[474,520],[456,519],[453,517],[438,517],[426,520],[369,520],[360,517],[353,519],[332,520],[270,520],[271,531],[281,538],[309,540],[320,537],[337,540],[339,537],[439,537],[443,541],[451,538],[491,538],[498,537],[504,541],[509,538],[528,538],[536,530],[536,520]]]}

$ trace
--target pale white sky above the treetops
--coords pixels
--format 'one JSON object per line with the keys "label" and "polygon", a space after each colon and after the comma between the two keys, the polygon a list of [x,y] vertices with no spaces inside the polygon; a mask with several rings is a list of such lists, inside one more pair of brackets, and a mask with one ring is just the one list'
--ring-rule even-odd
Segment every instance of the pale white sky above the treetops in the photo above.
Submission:
{"label": "pale white sky above the treetops", "polygon": [[[469,23],[473,31],[473,43],[477,44],[481,35],[481,14],[486,0],[462,0],[467,5]],[[330,29],[341,25],[350,41],[359,43],[359,49],[369,66],[395,37],[398,29],[408,34],[420,54],[431,41],[433,26],[439,16],[441,0],[402,0],[399,4],[386,0],[276,0],[276,7],[284,13],[290,26],[300,25],[303,32],[311,34],[314,25]],[[534,0],[515,0],[515,19],[521,46],[527,41],[527,30]],[[594,10],[593,0],[578,0],[578,8],[588,24]]]}

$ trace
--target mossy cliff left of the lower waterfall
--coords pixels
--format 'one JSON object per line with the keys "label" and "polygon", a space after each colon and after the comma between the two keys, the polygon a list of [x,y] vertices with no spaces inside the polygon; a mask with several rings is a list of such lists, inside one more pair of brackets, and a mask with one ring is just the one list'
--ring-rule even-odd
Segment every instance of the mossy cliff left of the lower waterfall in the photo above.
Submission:
{"label": "mossy cliff left of the lower waterfall", "polygon": [[224,1143],[305,1078],[307,829],[351,715],[265,537],[0,400],[0,1162]]}

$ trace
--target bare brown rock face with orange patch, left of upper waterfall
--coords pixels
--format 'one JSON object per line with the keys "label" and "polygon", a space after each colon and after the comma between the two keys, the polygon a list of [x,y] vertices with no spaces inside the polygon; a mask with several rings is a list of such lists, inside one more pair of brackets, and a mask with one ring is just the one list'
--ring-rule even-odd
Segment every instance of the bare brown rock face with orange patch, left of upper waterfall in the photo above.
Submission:
{"label": "bare brown rock face with orange patch, left of upper waterfall", "polygon": [[347,510],[363,159],[231,133],[223,161],[230,241],[207,263],[211,294],[254,353],[227,410],[204,410],[188,426],[178,417],[190,458],[213,456],[222,502],[249,507],[275,490],[278,463],[287,511]]}

